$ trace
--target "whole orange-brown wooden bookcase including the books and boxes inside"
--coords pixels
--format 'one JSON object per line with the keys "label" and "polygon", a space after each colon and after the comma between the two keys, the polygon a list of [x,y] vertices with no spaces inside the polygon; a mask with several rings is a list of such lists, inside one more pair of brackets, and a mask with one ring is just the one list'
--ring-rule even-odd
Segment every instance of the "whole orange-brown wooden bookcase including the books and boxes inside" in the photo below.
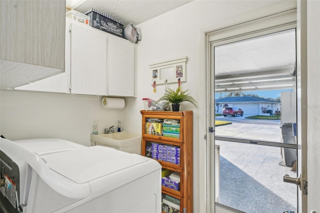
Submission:
{"label": "whole orange-brown wooden bookcase including the books and boxes inside", "polygon": [[[168,171],[165,170],[168,169],[169,173],[175,172],[174,174],[180,177],[179,184],[175,179],[170,181],[168,178],[162,178],[162,183],[166,181],[161,186],[162,212],[170,210],[168,207],[170,203],[171,212],[175,212],[175,210],[186,213],[192,212],[193,112],[146,110],[140,112],[142,115],[141,154],[156,159],[162,166],[163,176],[168,176]],[[163,136],[163,121],[167,122],[167,119],[177,120],[178,123],[165,125],[164,135],[166,136]],[[151,126],[151,123],[153,126]],[[168,149],[168,147],[171,148]],[[179,210],[177,210],[177,206],[179,206]]]}

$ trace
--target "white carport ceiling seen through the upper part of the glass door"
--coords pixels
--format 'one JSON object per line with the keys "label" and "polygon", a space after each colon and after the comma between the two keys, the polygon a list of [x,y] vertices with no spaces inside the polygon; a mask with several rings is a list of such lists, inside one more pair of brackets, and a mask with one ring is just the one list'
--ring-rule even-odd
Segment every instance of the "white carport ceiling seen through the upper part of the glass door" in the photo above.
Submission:
{"label": "white carport ceiling seen through the upper part of the glass door", "polygon": [[215,92],[295,88],[295,29],[214,46]]}

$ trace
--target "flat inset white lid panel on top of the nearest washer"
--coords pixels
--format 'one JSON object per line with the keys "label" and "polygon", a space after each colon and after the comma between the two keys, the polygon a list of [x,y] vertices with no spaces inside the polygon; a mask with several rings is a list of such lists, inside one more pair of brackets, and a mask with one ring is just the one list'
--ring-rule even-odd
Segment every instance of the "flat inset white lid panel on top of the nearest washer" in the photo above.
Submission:
{"label": "flat inset white lid panel on top of the nearest washer", "polygon": [[104,146],[90,146],[41,157],[62,176],[84,183],[147,161],[146,157]]}

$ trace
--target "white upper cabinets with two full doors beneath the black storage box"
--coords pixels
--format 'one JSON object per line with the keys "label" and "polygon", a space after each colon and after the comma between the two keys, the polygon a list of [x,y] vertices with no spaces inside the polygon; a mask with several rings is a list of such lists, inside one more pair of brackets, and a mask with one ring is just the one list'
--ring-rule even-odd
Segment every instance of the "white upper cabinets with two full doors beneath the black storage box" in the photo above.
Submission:
{"label": "white upper cabinets with two full doors beneath the black storage box", "polygon": [[70,18],[65,38],[65,73],[16,89],[135,95],[135,43]]}

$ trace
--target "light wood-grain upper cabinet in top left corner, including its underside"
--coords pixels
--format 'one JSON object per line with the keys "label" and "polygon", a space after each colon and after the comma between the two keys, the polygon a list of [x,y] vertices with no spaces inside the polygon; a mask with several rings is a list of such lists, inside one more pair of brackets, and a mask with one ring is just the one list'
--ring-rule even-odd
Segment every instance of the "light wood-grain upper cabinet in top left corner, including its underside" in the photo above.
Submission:
{"label": "light wood-grain upper cabinet in top left corner, including its underside", "polygon": [[0,0],[1,89],[64,71],[65,0]]}

